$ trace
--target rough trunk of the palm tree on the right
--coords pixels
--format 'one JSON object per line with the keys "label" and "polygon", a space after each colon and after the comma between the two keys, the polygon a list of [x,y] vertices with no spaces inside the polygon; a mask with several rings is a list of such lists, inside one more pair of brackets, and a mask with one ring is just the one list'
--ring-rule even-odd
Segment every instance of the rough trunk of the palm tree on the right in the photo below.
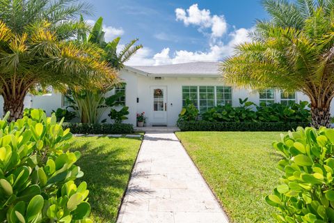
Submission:
{"label": "rough trunk of the palm tree on the right", "polygon": [[331,112],[330,107],[311,107],[312,127],[320,128],[325,126],[331,127]]}

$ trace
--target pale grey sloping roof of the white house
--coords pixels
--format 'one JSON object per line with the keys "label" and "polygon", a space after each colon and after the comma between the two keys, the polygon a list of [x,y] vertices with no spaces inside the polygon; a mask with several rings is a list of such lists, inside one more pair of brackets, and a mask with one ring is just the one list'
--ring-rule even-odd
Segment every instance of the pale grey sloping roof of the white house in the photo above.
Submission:
{"label": "pale grey sloping roof of the white house", "polygon": [[191,62],[191,63],[178,63],[161,66],[131,66],[135,70],[140,70],[146,73],[148,76],[156,75],[219,75],[218,74],[219,62]]}

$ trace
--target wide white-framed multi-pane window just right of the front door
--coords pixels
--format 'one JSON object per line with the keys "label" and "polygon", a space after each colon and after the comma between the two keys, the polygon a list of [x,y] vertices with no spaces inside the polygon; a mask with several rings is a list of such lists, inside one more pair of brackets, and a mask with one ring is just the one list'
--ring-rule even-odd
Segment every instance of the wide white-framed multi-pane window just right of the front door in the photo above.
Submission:
{"label": "wide white-framed multi-pane window just right of the front door", "polygon": [[198,110],[207,112],[216,105],[232,104],[232,88],[230,86],[182,86],[182,104],[191,100]]}

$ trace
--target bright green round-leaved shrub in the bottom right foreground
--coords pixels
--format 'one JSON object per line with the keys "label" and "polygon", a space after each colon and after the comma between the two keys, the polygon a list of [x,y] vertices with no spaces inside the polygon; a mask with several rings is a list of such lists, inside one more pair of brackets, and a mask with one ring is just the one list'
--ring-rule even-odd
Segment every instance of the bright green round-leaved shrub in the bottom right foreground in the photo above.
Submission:
{"label": "bright green round-leaved shrub in the bottom right foreground", "polygon": [[334,222],[334,130],[298,128],[273,147],[283,155],[281,184],[267,203],[278,222]]}

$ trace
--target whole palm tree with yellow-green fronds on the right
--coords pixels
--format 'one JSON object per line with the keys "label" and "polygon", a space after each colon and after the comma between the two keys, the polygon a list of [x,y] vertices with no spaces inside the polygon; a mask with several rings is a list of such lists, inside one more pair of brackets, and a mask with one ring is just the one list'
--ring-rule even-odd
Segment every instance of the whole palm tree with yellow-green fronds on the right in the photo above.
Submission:
{"label": "whole palm tree with yellow-green fronds on the right", "polygon": [[301,91],[312,125],[330,125],[334,97],[334,0],[262,1],[270,21],[258,20],[250,43],[221,63],[226,82],[253,89]]}

